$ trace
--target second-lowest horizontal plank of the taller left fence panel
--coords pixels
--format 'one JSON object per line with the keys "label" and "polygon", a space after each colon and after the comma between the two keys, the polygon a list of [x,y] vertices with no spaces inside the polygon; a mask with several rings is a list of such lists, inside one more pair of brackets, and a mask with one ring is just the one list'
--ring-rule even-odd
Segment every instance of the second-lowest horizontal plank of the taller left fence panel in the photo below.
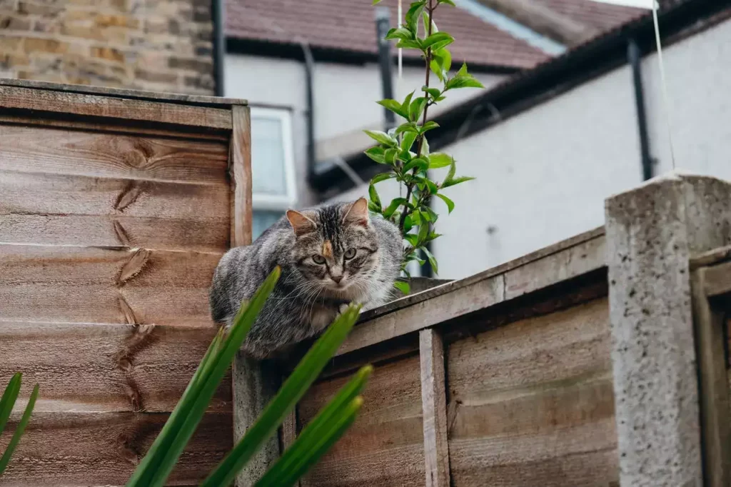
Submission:
{"label": "second-lowest horizontal plank of the taller left fence panel", "polygon": [[[21,398],[40,385],[36,411],[170,412],[215,333],[214,327],[0,321],[0,385],[22,371]],[[230,378],[211,410],[231,412]]]}

